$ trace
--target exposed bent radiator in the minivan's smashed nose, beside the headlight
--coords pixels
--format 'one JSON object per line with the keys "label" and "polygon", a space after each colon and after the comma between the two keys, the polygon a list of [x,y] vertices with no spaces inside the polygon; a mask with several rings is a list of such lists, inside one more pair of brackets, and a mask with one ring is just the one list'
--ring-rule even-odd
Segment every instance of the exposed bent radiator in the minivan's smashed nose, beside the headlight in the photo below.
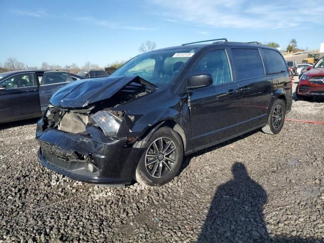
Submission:
{"label": "exposed bent radiator in the minivan's smashed nose, beside the headlight", "polygon": [[58,129],[69,133],[82,133],[86,131],[88,116],[76,113],[65,113]]}

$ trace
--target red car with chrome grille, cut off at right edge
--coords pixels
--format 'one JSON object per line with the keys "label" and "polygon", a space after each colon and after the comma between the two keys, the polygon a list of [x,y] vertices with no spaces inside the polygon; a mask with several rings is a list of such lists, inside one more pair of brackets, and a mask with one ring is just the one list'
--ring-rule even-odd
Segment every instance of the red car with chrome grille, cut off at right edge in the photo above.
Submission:
{"label": "red car with chrome grille, cut off at right edge", "polygon": [[296,88],[296,96],[312,99],[315,96],[324,97],[324,57],[319,59],[309,71],[303,73]]}

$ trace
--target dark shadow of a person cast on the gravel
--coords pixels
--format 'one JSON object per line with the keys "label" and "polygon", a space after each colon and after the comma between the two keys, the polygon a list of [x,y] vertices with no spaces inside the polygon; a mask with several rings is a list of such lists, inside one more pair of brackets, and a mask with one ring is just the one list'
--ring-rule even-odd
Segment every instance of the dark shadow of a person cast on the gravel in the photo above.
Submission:
{"label": "dark shadow of a person cast on the gravel", "polygon": [[232,166],[232,174],[232,180],[217,188],[198,243],[322,242],[291,235],[269,236],[263,215],[266,191],[250,178],[242,163]]}

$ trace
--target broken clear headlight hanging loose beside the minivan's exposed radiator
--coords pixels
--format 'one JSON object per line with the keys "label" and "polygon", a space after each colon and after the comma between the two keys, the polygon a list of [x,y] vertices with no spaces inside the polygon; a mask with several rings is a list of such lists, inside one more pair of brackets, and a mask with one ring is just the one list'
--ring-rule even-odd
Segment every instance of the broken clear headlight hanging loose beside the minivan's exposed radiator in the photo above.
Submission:
{"label": "broken clear headlight hanging loose beside the minivan's exposed radiator", "polygon": [[121,119],[107,110],[98,111],[91,116],[92,124],[102,129],[106,136],[115,137],[119,130]]}

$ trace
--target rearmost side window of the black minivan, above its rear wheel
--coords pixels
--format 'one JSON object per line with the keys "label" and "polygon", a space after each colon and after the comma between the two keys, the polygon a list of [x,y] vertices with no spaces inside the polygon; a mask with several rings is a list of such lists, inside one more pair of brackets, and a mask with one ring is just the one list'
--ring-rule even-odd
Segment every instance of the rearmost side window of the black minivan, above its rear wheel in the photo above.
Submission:
{"label": "rearmost side window of the black minivan, above its rear wheel", "polygon": [[260,49],[266,74],[275,74],[287,71],[287,66],[284,58],[281,55],[270,49]]}

